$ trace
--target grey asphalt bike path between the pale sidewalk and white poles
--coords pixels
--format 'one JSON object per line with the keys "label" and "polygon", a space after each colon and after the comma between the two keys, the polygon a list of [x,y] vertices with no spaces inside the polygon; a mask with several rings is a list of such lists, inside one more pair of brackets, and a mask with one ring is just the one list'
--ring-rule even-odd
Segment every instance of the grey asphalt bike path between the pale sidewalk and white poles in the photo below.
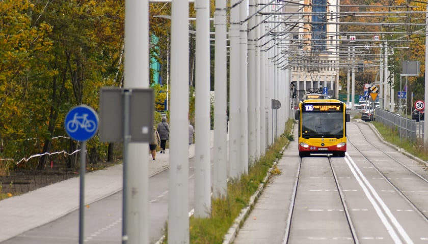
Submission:
{"label": "grey asphalt bike path between the pale sidewalk and white poles", "polygon": [[[189,192],[193,193],[193,158],[189,159]],[[168,219],[168,170],[149,179],[150,242],[155,243],[163,235]],[[193,208],[190,194],[189,211]],[[2,244],[75,244],[78,241],[78,210],[38,228],[26,231],[2,242]],[[92,203],[85,209],[85,243],[122,243],[122,191]]]}

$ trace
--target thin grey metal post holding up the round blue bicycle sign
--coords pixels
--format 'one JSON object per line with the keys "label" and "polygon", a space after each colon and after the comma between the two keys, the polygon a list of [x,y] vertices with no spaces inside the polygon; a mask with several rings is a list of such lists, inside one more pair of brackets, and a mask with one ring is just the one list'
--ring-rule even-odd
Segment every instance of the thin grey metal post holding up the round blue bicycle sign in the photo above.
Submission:
{"label": "thin grey metal post holding up the round blue bicycle sign", "polygon": [[85,237],[86,141],[81,141],[80,157],[79,244],[83,244]]}

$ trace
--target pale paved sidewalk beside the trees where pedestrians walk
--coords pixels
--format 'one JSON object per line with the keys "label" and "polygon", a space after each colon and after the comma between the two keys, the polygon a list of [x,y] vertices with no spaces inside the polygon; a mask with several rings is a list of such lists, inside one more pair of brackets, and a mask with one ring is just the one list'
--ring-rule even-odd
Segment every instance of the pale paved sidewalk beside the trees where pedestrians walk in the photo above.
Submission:
{"label": "pale paved sidewalk beside the trees where pedestrians walk", "polygon": [[[213,131],[211,131],[211,145]],[[156,160],[148,154],[149,175],[169,167],[166,154],[156,153]],[[189,149],[189,158],[195,156],[195,145]],[[85,203],[90,204],[122,190],[122,164],[85,175]],[[79,177],[71,178],[0,201],[0,242],[47,224],[79,208]]]}

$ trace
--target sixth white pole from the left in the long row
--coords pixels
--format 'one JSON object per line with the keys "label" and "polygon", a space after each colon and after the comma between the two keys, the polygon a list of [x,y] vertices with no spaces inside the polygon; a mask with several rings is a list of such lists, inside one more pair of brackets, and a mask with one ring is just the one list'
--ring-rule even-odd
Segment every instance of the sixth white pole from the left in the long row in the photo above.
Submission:
{"label": "sixth white pole from the left in the long row", "polygon": [[239,4],[240,161],[239,174],[248,173],[248,0]]}

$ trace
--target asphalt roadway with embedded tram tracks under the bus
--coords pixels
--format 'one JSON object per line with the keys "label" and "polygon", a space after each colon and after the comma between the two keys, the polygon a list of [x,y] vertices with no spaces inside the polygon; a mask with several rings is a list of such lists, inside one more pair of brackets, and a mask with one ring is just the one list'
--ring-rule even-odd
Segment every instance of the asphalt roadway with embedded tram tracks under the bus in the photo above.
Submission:
{"label": "asphalt roadway with embedded tram tracks under the bus", "polygon": [[345,158],[301,160],[293,141],[233,243],[428,243],[425,163],[368,124],[347,124]]}

